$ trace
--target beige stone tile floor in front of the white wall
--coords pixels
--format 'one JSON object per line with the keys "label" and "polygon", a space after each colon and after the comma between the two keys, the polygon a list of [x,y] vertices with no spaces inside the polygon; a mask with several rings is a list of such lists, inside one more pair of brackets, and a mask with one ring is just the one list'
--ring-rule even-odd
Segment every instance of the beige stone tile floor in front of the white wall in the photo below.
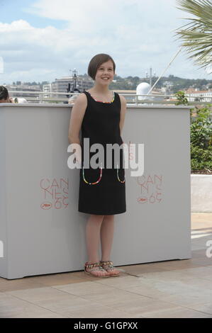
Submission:
{"label": "beige stone tile floor in front of the white wall", "polygon": [[191,239],[191,259],[123,266],[119,277],[0,278],[0,317],[212,318],[212,213],[191,214]]}

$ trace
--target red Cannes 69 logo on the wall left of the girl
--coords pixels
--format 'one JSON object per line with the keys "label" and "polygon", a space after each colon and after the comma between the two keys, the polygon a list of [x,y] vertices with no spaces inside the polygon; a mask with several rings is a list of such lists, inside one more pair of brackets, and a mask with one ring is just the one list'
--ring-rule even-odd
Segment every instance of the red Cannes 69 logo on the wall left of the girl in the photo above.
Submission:
{"label": "red Cannes 69 logo on the wall left of the girl", "polygon": [[40,188],[43,201],[40,207],[44,210],[61,209],[68,206],[69,179],[41,179]]}

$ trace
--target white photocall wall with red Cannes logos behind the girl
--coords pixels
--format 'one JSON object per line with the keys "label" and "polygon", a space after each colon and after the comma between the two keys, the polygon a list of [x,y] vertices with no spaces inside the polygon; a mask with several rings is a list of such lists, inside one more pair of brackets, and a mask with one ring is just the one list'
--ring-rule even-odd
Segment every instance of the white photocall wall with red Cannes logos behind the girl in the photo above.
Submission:
{"label": "white photocall wall with red Cannes logos behind the girl", "polygon": [[[89,215],[77,210],[79,169],[67,166],[70,112],[68,105],[0,105],[3,278],[84,269]],[[130,159],[130,144],[144,145],[144,173],[125,170],[114,265],[191,257],[189,124],[189,106],[128,107],[122,138]]]}

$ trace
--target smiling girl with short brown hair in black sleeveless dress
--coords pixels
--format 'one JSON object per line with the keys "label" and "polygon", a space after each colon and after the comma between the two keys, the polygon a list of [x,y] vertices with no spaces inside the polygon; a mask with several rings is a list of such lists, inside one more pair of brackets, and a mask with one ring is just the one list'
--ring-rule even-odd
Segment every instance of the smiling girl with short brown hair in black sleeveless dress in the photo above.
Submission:
{"label": "smiling girl with short brown hair in black sleeveless dress", "polygon": [[[94,79],[94,86],[77,97],[72,108],[69,123],[69,143],[82,146],[82,155],[76,154],[81,163],[79,179],[78,210],[89,214],[86,227],[87,251],[89,260],[84,271],[93,276],[118,276],[110,260],[113,243],[114,215],[125,213],[125,170],[123,150],[120,149],[118,168],[106,168],[106,144],[121,146],[121,130],[126,112],[123,96],[109,90],[113,81],[116,64],[109,55],[95,55],[89,62],[88,74]],[[82,129],[82,142],[79,131]],[[104,147],[104,167],[84,168],[84,138],[89,138],[89,147],[100,143]],[[122,153],[121,153],[122,151]],[[96,154],[96,152],[95,152]],[[92,153],[89,153],[89,157]],[[98,258],[101,239],[101,261]]]}

